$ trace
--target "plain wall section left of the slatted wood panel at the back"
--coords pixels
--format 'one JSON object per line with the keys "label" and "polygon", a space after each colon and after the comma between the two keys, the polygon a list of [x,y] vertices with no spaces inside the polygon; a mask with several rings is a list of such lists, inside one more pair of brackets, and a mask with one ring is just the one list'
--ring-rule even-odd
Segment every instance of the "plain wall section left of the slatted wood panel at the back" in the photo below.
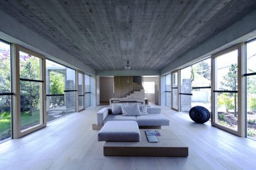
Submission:
{"label": "plain wall section left of the slatted wood panel at the back", "polygon": [[100,102],[109,102],[114,97],[114,76],[100,77]]}

